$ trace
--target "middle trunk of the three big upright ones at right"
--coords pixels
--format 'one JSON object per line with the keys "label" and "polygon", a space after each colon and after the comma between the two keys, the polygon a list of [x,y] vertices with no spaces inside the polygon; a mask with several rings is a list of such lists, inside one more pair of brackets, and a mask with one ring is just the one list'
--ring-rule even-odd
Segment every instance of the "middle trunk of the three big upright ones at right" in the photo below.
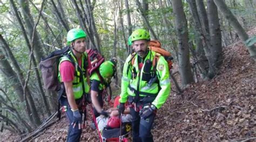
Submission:
{"label": "middle trunk of the three big upright ones at right", "polygon": [[190,11],[192,14],[192,18],[193,18],[193,25],[195,27],[195,40],[196,40],[196,56],[197,56],[197,61],[198,65],[199,65],[199,70],[201,72],[201,75],[203,75],[203,77],[205,77],[207,75],[207,68],[208,68],[208,62],[207,62],[207,58],[205,56],[205,51],[204,51],[204,46],[203,46],[203,42],[201,40],[201,35],[203,34],[203,30],[201,30],[201,23],[200,23],[200,19],[199,19],[199,15],[197,12],[197,5],[196,5],[196,1],[192,1],[192,0],[187,0],[188,4],[190,5]]}

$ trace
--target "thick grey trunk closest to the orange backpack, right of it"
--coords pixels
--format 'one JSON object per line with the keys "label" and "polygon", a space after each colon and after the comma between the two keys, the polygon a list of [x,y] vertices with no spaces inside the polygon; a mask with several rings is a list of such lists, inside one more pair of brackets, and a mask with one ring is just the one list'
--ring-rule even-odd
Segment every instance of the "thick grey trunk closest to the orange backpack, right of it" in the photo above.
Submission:
{"label": "thick grey trunk closest to the orange backpack, right of it", "polygon": [[189,57],[187,22],[182,2],[180,0],[173,0],[172,7],[176,19],[176,31],[179,40],[179,72],[181,83],[185,87],[187,84],[194,82]]}

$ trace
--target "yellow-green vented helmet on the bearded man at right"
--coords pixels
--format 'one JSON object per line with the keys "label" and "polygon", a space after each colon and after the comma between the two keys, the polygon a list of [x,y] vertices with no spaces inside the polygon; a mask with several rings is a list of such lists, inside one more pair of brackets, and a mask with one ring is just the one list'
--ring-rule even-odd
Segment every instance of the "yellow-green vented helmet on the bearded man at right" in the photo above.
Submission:
{"label": "yellow-green vented helmet on the bearded man at right", "polygon": [[131,42],[135,40],[150,40],[150,34],[145,29],[137,29],[131,34]]}

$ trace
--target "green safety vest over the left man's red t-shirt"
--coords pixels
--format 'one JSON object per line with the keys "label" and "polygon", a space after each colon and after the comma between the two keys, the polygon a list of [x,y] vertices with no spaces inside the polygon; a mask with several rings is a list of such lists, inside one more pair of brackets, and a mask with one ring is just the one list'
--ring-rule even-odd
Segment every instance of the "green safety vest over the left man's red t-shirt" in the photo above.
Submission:
{"label": "green safety vest over the left man's red t-shirt", "polygon": [[[68,54],[69,55],[64,55],[62,58],[59,59],[59,66],[60,66],[60,63],[62,63],[63,61],[70,61],[75,66],[75,76],[72,82],[73,83],[72,88],[73,88],[73,95],[75,99],[79,99],[83,96],[83,94],[89,93],[89,90],[90,90],[90,86],[87,83],[87,77],[86,77],[88,56],[86,52],[82,54],[82,63],[81,63],[81,67],[79,67],[75,55],[73,55],[71,51],[69,51]],[[60,82],[62,82],[60,73],[58,73],[58,79]]]}

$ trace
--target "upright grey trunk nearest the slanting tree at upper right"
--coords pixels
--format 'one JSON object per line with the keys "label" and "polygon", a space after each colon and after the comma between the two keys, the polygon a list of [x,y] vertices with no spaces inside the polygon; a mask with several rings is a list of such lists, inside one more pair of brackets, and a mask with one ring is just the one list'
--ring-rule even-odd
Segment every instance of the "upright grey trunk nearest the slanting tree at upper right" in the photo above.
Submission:
{"label": "upright grey trunk nearest the slanting tree at upper right", "polygon": [[219,16],[217,6],[212,0],[207,1],[207,16],[209,24],[209,33],[211,39],[211,56],[212,60],[210,62],[210,72],[208,72],[208,77],[212,79],[217,73],[223,60],[222,46],[221,46],[221,32],[219,25]]}

